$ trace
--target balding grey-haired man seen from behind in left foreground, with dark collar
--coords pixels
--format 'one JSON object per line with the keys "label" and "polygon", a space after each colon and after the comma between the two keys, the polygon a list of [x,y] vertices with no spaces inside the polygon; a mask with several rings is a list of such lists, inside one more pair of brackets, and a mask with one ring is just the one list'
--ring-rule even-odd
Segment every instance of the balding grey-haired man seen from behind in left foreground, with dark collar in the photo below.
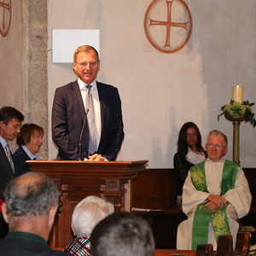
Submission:
{"label": "balding grey-haired man seen from behind in left foreground, with dark collar", "polygon": [[7,185],[2,208],[9,234],[0,241],[3,255],[65,255],[47,244],[59,196],[55,183],[38,172],[27,172]]}

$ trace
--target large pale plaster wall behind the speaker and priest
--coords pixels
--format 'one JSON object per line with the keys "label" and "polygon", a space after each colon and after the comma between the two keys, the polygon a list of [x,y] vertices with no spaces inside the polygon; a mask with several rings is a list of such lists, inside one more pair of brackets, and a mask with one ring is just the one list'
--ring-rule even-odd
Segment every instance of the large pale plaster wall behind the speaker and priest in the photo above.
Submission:
{"label": "large pale plaster wall behind the speaker and priest", "polygon": [[[218,122],[217,116],[236,84],[244,87],[244,100],[256,101],[256,2],[185,1],[193,32],[189,44],[174,54],[148,43],[143,19],[151,2],[48,1],[49,159],[57,153],[50,135],[55,88],[76,79],[72,64],[51,62],[51,31],[58,28],[100,29],[102,66],[97,79],[118,87],[122,100],[125,140],[118,160],[148,160],[150,168],[171,168],[178,131],[187,121],[199,126],[203,143],[212,129],[226,133],[227,159],[232,160],[232,124],[224,118]],[[241,124],[243,167],[256,166],[255,136],[256,128]]]}

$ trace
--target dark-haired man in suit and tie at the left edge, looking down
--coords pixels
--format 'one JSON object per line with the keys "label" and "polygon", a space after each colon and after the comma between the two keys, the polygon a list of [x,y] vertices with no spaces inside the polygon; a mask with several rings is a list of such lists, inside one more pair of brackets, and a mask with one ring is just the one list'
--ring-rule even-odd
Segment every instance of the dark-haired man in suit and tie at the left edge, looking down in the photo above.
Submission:
{"label": "dark-haired man in suit and tie at the left edge, looking down", "polygon": [[3,107],[0,109],[0,239],[3,239],[8,233],[8,225],[3,220],[1,212],[3,190],[7,183],[18,175],[9,150],[9,141],[13,141],[20,132],[23,119],[23,114],[15,108]]}

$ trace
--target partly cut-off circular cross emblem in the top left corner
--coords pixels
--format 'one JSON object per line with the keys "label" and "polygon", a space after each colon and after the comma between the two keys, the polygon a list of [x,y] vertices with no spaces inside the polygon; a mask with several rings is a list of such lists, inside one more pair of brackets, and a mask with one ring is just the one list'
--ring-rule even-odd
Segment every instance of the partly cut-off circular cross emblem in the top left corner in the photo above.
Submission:
{"label": "partly cut-off circular cross emblem in the top left corner", "polygon": [[0,0],[0,33],[4,37],[9,32],[12,18],[11,0]]}

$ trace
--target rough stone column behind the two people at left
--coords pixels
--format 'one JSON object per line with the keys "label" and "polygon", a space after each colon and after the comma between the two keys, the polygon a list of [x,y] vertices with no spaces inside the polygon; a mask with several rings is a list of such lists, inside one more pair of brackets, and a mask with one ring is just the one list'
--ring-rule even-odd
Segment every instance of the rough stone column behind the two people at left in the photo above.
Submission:
{"label": "rough stone column behind the two people at left", "polygon": [[21,0],[22,112],[26,122],[44,128],[39,155],[48,158],[47,0]]}

